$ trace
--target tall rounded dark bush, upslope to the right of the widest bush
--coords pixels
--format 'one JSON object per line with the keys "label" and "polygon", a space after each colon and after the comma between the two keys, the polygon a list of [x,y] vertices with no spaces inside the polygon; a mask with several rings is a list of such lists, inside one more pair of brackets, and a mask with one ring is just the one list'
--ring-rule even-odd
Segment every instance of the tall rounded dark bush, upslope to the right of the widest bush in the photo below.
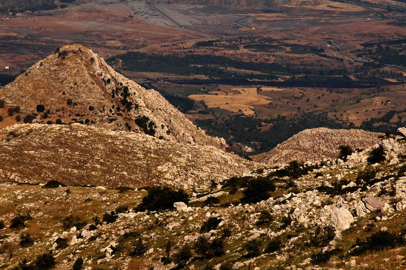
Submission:
{"label": "tall rounded dark bush, upslope to the right of the widest bush", "polygon": [[241,201],[244,203],[258,203],[258,201],[268,199],[270,197],[269,192],[275,191],[275,189],[276,187],[272,180],[265,177],[252,179],[248,182]]}

